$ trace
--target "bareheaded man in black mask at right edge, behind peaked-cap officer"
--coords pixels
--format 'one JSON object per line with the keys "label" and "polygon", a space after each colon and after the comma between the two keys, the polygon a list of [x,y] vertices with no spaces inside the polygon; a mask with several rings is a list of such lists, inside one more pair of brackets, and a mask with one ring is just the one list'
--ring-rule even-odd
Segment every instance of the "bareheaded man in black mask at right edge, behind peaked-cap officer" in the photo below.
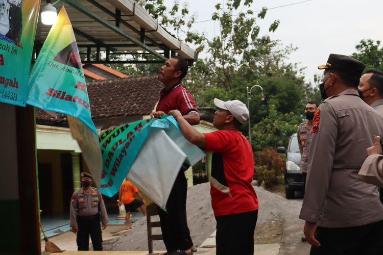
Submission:
{"label": "bareheaded man in black mask at right edge, behind peaked-cap officer", "polygon": [[[366,104],[375,109],[383,117],[383,72],[368,69],[362,75],[358,93]],[[383,203],[383,189],[380,189],[380,202]]]}

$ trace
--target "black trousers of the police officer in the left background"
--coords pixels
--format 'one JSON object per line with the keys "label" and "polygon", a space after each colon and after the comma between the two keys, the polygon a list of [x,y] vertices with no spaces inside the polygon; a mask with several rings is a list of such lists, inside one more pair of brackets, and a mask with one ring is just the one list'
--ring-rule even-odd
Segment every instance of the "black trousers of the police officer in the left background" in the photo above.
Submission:
{"label": "black trousers of the police officer in the left background", "polygon": [[93,250],[103,250],[103,239],[99,214],[93,216],[77,217],[79,232],[77,233],[77,250],[89,250],[89,235],[92,240]]}

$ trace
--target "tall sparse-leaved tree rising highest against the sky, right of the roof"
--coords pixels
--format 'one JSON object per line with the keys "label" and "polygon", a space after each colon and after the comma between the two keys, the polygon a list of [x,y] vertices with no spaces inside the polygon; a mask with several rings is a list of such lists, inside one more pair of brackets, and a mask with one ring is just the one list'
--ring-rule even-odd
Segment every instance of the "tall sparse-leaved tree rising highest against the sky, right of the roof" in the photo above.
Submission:
{"label": "tall sparse-leaved tree rising highest against the sky, right of the roof", "polygon": [[[257,40],[260,31],[257,19],[263,19],[267,8],[263,8],[257,15],[250,9],[252,0],[228,0],[225,4],[217,4],[216,12],[211,16],[220,23],[219,34],[208,40],[204,35],[188,33],[186,42],[197,43],[200,49],[209,53],[205,61],[214,71],[210,76],[210,83],[226,90],[231,89],[241,60]],[[241,10],[238,13],[238,10]],[[269,31],[275,31],[279,21],[274,21]]]}

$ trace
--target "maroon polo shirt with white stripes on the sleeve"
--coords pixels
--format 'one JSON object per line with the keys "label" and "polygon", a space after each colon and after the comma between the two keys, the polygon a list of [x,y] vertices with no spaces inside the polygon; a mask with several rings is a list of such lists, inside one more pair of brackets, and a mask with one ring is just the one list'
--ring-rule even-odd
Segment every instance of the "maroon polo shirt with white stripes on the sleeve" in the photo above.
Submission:
{"label": "maroon polo shirt with white stripes on the sleeve", "polygon": [[163,89],[156,111],[168,114],[171,110],[178,110],[182,115],[189,112],[198,112],[192,95],[180,83],[175,84],[170,90]]}

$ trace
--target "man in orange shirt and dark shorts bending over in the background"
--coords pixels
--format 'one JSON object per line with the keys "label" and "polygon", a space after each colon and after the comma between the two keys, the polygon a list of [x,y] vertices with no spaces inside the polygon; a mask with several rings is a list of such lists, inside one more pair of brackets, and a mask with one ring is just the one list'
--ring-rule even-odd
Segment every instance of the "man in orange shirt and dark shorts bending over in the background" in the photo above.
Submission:
{"label": "man in orange shirt and dark shorts bending over in the background", "polygon": [[[137,199],[134,197],[137,193]],[[134,184],[126,180],[123,182],[118,192],[118,206],[124,205],[126,211],[126,230],[130,230],[130,213],[135,212],[137,208],[141,209],[143,216],[146,216],[145,200],[143,200],[141,193]]]}

